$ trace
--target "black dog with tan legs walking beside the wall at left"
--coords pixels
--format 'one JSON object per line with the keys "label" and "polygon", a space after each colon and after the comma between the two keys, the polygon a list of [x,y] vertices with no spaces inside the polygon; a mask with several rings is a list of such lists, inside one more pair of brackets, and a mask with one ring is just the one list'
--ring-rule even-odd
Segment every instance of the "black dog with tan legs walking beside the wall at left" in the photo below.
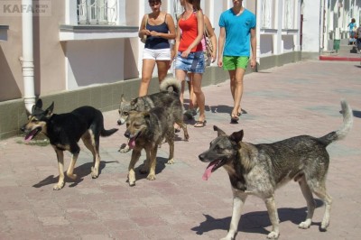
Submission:
{"label": "black dog with tan legs walking beside the wall at left", "polygon": [[64,187],[64,151],[71,152],[71,162],[67,171],[67,176],[75,180],[77,175],[73,173],[77,162],[80,148],[78,142],[81,138],[88,150],[93,153],[93,166],[91,177],[96,179],[99,174],[99,137],[109,136],[116,133],[118,129],[104,129],[102,113],[92,106],[80,106],[74,111],[66,114],[53,114],[54,103],[46,110],[42,110],[42,99],[32,106],[32,114],[29,121],[23,125],[21,130],[26,133],[25,141],[30,141],[39,134],[45,134],[54,148],[59,167],[59,181],[54,185],[54,190]]}

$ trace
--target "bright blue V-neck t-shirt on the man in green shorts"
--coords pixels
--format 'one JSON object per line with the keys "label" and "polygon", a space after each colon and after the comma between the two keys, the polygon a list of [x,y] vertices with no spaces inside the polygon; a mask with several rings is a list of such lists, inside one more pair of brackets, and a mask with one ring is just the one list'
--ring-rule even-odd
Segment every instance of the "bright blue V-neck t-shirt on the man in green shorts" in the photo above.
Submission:
{"label": "bright blue V-neck t-shirt on the man in green shorts", "polygon": [[237,16],[230,8],[220,15],[218,24],[226,30],[223,55],[249,57],[251,29],[255,28],[255,14],[245,9]]}

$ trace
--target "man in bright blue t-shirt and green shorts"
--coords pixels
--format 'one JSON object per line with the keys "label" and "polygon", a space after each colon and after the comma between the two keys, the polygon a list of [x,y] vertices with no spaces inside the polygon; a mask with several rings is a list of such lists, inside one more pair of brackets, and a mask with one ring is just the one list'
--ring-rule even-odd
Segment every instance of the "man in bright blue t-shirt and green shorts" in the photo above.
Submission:
{"label": "man in bright blue t-shirt and green shorts", "polygon": [[[242,113],[243,78],[248,62],[255,69],[255,14],[242,6],[242,0],[233,0],[233,7],[219,18],[218,67],[228,70],[234,99],[231,121],[237,122]],[[252,55],[250,54],[250,46]]]}

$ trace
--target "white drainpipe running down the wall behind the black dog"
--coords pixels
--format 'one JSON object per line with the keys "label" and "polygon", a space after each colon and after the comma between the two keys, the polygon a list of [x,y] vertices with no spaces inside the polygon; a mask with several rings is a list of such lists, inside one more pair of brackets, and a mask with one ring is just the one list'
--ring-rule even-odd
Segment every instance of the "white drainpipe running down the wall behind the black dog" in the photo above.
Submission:
{"label": "white drainpipe running down the wall behind the black dog", "polygon": [[34,90],[34,65],[33,65],[33,45],[32,45],[32,0],[22,0],[23,9],[23,101],[26,111],[32,113],[32,106],[35,104],[35,90]]}

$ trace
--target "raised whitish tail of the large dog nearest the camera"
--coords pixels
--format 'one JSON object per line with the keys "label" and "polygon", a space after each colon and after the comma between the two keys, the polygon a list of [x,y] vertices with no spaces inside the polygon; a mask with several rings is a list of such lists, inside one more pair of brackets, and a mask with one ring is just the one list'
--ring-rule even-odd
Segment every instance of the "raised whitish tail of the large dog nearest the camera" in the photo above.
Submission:
{"label": "raised whitish tail of the large dog nearest the camera", "polygon": [[329,143],[341,140],[344,137],[346,137],[346,135],[348,134],[348,132],[350,131],[353,125],[352,109],[344,99],[341,100],[341,108],[342,108],[342,115],[344,117],[343,125],[338,129],[338,131],[326,134],[323,137],[319,138],[319,140],[325,143],[326,145],[329,145]]}

